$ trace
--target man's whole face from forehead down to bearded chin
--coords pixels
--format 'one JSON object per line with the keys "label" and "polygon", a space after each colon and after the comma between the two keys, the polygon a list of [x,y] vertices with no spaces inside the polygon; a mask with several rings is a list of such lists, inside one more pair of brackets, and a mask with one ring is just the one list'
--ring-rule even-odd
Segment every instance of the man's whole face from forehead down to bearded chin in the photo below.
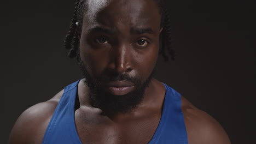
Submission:
{"label": "man's whole face from forehead down to bearded chin", "polygon": [[134,108],[158,58],[158,5],[153,0],[89,0],[85,7],[79,56],[91,97]]}

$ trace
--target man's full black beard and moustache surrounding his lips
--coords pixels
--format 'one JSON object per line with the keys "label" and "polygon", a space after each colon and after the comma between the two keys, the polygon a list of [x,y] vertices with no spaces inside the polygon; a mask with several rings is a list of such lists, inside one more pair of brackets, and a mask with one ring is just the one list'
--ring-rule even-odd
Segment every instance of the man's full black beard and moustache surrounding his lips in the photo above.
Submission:
{"label": "man's full black beard and moustache surrounding his lips", "polygon": [[[154,70],[146,80],[141,77],[132,77],[127,74],[114,74],[109,73],[101,74],[92,78],[88,73],[88,67],[80,59],[78,53],[77,62],[80,70],[82,70],[83,81],[90,89],[90,102],[92,106],[102,110],[103,115],[114,115],[117,113],[129,113],[131,110],[136,109],[141,104],[144,98],[145,89],[149,86],[152,80]],[[129,81],[134,84],[135,89],[124,95],[113,95],[104,91],[104,83],[110,81]]]}

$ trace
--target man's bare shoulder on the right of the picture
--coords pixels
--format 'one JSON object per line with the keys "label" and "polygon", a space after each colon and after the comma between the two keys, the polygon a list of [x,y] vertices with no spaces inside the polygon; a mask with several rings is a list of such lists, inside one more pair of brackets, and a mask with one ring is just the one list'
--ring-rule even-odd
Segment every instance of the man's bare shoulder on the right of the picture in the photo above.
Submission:
{"label": "man's bare shoulder on the right of the picture", "polygon": [[231,143],[225,130],[216,119],[197,109],[184,97],[182,97],[182,111],[189,144]]}

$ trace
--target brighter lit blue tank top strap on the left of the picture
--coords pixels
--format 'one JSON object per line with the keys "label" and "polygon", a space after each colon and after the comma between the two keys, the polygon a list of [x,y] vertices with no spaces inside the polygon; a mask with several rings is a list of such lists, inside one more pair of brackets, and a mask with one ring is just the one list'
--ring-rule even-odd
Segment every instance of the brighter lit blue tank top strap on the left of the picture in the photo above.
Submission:
{"label": "brighter lit blue tank top strap on the left of the picture", "polygon": [[74,120],[75,98],[77,95],[77,86],[79,81],[80,80],[65,87],[63,95],[45,131],[43,144],[82,144],[78,137]]}

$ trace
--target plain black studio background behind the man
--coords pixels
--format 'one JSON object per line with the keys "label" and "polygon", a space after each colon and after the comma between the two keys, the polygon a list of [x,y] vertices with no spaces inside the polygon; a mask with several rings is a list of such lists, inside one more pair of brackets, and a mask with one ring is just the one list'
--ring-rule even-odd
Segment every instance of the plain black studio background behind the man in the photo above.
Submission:
{"label": "plain black studio background behind the man", "polygon": [[[28,107],[80,79],[63,38],[74,1],[5,1],[1,4],[0,143]],[[255,2],[168,1],[174,62],[159,57],[156,78],[222,124],[233,144],[255,138]]]}

